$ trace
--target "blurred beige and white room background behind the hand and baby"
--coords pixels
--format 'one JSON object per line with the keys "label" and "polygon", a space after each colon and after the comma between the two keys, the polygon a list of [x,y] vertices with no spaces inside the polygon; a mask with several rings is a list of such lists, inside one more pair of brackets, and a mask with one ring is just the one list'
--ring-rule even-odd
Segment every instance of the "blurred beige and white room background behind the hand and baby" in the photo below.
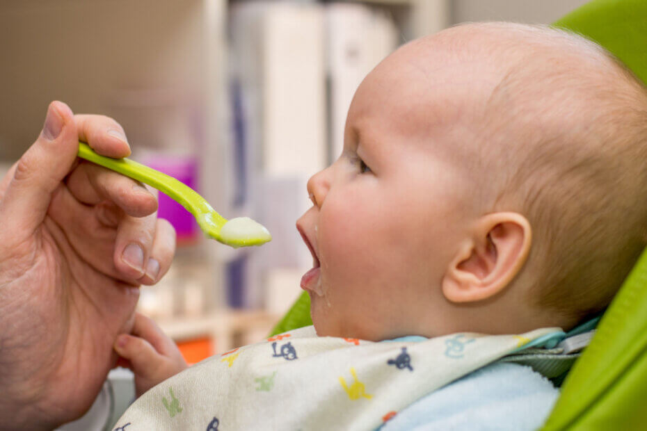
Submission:
{"label": "blurred beige and white room background behind the hand and baby", "polygon": [[49,101],[125,127],[133,158],[196,188],[273,241],[206,241],[168,198],[177,259],[142,289],[195,362],[264,338],[312,258],[294,227],[305,184],[340,154],[353,92],[400,44],[465,21],[550,23],[586,0],[3,0],[0,174],[40,133]]}

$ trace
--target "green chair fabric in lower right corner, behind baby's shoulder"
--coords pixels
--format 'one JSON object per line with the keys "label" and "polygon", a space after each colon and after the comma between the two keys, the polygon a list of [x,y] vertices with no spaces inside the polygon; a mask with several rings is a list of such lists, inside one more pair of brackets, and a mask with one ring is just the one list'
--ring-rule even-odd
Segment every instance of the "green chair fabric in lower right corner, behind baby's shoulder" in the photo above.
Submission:
{"label": "green chair fabric in lower right corner, behind baby's shoulder", "polygon": [[566,377],[543,430],[644,429],[646,352],[647,250]]}

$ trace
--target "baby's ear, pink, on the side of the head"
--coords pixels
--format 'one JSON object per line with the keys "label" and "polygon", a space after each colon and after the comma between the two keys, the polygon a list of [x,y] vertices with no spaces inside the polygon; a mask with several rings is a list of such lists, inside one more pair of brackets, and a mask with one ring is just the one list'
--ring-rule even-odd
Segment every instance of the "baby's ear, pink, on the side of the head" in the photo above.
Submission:
{"label": "baby's ear, pink, on the side of the head", "polygon": [[532,234],[518,213],[491,213],[477,220],[442,278],[452,302],[491,298],[512,281],[528,257]]}

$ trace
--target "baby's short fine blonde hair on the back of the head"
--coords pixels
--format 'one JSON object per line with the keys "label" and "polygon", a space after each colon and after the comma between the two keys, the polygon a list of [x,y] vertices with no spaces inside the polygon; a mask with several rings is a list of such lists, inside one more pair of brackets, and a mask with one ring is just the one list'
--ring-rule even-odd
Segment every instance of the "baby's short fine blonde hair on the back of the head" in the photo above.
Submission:
{"label": "baby's short fine blonde hair on the back of the head", "polygon": [[505,172],[488,211],[528,218],[533,245],[515,283],[574,324],[609,304],[646,245],[647,92],[580,35],[476,25],[510,31],[493,49],[520,51],[487,103],[499,120],[479,133],[482,168]]}

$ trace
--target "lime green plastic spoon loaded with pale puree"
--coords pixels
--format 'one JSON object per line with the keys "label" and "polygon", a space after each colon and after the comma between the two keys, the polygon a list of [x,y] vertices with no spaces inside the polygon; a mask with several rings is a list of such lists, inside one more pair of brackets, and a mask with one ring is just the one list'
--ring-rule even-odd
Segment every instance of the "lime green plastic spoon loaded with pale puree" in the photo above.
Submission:
{"label": "lime green plastic spoon loaded with pale puree", "polygon": [[79,142],[78,156],[157,188],[193,214],[200,229],[205,232],[207,237],[214,238],[223,244],[232,247],[246,247],[262,245],[272,239],[269,231],[263,225],[248,217],[232,218],[227,221],[209,205],[204,197],[167,174],[128,158],[100,156],[86,143]]}

